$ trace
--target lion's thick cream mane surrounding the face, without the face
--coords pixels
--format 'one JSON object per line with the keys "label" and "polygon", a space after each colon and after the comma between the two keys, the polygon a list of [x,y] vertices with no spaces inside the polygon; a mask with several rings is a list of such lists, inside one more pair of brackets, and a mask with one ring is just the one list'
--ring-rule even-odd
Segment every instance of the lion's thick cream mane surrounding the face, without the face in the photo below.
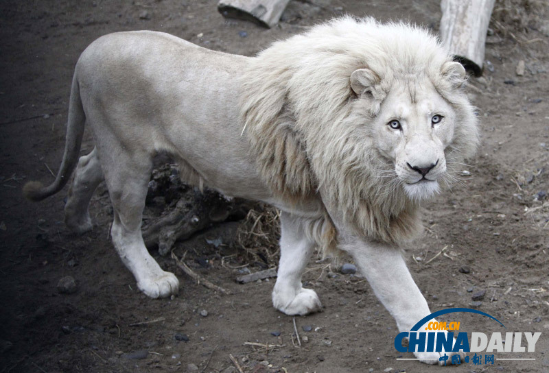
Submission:
{"label": "lion's thick cream mane surrounding the face, without the face", "polygon": [[[388,188],[379,172],[368,121],[395,80],[425,76],[456,111],[449,164],[471,156],[478,143],[474,108],[445,75],[451,61],[438,40],[421,27],[344,17],[274,43],[253,58],[243,75],[244,133],[272,193],[300,200],[320,192],[353,232],[398,244],[421,230],[418,205],[401,188]],[[379,77],[365,107],[349,77],[367,67]],[[327,219],[329,219],[327,217]]]}

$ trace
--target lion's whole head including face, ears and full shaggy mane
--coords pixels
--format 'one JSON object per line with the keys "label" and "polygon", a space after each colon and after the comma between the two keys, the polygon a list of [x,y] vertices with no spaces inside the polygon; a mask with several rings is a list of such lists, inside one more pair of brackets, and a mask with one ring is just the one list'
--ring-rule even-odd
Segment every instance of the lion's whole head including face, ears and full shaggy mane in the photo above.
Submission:
{"label": "lion's whole head including face, ears and full shaggy mane", "polygon": [[254,58],[242,116],[273,193],[320,193],[355,233],[398,243],[419,230],[417,203],[476,149],[464,81],[425,30],[345,17]]}

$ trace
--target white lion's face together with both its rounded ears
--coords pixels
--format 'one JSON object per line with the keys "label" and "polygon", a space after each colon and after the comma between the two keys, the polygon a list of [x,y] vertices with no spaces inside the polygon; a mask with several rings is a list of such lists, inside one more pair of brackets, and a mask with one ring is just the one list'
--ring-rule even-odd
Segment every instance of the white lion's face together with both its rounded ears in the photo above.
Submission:
{"label": "white lion's face together with both its rounded ears", "polygon": [[[444,79],[463,81],[465,70],[457,62],[448,62],[443,69]],[[454,108],[426,75],[397,76],[390,89],[382,92],[377,88],[379,77],[359,69],[351,75],[351,86],[362,103],[372,108],[370,136],[390,164],[379,170],[388,179],[386,186],[401,185],[416,201],[437,193],[446,173],[445,149],[454,138]]]}

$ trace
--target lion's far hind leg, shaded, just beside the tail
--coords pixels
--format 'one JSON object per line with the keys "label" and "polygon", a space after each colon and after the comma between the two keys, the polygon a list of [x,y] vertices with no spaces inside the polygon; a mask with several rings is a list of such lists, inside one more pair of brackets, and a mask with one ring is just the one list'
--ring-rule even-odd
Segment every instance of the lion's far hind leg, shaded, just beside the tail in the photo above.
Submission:
{"label": "lion's far hind leg, shaded, just beside the tail", "polygon": [[65,224],[76,233],[91,230],[89,203],[97,185],[104,180],[103,171],[95,147],[78,160],[69,198],[65,204]]}

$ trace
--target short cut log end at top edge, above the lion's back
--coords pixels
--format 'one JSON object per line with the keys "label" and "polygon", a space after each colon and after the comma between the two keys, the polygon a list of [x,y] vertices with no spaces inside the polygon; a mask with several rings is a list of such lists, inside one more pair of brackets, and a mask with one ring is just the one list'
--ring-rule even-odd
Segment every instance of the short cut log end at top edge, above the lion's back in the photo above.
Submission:
{"label": "short cut log end at top edge, above the lion's back", "polygon": [[264,27],[276,25],[290,0],[220,0],[218,10],[224,17],[252,21]]}

